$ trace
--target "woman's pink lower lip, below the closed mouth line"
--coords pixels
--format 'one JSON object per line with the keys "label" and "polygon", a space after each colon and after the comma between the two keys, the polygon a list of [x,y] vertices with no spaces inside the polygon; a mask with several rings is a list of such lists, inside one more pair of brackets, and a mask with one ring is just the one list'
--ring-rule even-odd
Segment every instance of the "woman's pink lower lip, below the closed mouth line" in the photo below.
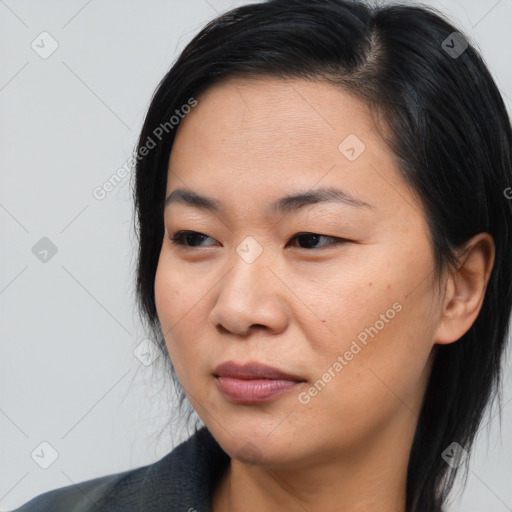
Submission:
{"label": "woman's pink lower lip, below the closed mouth line", "polygon": [[216,377],[220,392],[234,403],[266,402],[295,389],[301,382],[279,379],[235,379]]}

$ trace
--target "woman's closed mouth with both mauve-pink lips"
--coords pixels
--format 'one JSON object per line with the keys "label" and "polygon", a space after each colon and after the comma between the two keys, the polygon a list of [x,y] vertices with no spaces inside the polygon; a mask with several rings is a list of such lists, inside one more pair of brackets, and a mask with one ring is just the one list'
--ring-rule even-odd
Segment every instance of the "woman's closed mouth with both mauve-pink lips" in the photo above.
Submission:
{"label": "woman's closed mouth with both mauve-pink lips", "polygon": [[252,404],[270,401],[288,393],[305,379],[259,363],[223,363],[213,373],[217,388],[230,402]]}

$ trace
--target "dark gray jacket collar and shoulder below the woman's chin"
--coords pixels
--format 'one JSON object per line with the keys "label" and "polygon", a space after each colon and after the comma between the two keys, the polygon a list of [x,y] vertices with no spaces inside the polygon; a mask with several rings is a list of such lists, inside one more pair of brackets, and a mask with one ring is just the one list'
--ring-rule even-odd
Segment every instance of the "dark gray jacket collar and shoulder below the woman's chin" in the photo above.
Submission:
{"label": "dark gray jacket collar and shoulder below the woman's chin", "polygon": [[229,461],[203,427],[153,464],[45,492],[12,512],[211,512]]}

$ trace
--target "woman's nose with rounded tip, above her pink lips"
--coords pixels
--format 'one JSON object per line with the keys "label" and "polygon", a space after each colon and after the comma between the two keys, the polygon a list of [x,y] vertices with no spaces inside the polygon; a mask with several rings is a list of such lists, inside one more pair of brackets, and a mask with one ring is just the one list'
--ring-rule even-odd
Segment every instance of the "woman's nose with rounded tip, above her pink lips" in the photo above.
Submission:
{"label": "woman's nose with rounded tip, above her pink lips", "polygon": [[282,332],[289,321],[286,293],[265,251],[252,262],[234,251],[231,266],[218,284],[209,318],[218,330],[247,337],[255,329]]}

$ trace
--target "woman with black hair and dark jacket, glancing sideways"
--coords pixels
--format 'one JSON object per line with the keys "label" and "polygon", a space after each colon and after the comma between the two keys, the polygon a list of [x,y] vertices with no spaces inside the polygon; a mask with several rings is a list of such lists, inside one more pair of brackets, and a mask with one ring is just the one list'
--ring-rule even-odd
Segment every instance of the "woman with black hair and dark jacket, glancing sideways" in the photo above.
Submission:
{"label": "woman with black hair and dark jacket, glancing sideways", "polygon": [[500,383],[511,146],[480,56],[426,8],[210,22],[135,182],[141,312],[205,427],[18,510],[443,510]]}

